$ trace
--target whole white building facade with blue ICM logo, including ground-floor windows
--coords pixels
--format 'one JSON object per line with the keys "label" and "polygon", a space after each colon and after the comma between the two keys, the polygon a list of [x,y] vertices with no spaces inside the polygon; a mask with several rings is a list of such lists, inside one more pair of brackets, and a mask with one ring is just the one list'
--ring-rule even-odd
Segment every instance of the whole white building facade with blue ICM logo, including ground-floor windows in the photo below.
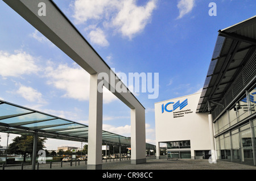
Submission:
{"label": "whole white building facade with blue ICM logo, including ground-floor windows", "polygon": [[201,92],[155,103],[156,157],[160,143],[167,158],[209,158],[208,113],[196,113]]}

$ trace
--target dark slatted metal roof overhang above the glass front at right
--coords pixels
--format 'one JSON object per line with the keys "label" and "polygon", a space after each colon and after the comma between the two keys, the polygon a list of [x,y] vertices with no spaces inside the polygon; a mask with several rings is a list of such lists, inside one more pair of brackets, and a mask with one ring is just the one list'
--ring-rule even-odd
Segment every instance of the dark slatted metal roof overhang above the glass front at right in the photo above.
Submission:
{"label": "dark slatted metal roof overhang above the glass front at right", "polygon": [[207,112],[208,102],[210,110],[214,110],[255,47],[256,16],[218,31],[196,112]]}

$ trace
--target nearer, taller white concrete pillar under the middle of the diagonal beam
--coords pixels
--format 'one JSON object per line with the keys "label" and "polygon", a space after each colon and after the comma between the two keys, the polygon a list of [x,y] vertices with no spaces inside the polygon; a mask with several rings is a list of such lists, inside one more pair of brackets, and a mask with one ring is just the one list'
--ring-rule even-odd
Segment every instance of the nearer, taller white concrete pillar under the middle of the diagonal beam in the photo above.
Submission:
{"label": "nearer, taller white concrete pillar under the middle of the diagonal beam", "polygon": [[97,90],[97,75],[90,75],[88,170],[102,169],[102,93]]}

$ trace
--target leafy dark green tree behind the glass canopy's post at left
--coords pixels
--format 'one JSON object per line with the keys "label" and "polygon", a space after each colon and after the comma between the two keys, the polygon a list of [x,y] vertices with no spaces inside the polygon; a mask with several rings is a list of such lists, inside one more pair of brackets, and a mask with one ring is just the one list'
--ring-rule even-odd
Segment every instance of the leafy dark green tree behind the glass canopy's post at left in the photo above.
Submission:
{"label": "leafy dark green tree behind the glass canopy's post at left", "polygon": [[[38,144],[36,146],[36,152],[46,148],[44,142],[47,138],[38,137]],[[7,154],[22,154],[23,162],[26,162],[26,154],[31,154],[33,151],[34,136],[17,136],[13,139],[13,142],[8,146]]]}

